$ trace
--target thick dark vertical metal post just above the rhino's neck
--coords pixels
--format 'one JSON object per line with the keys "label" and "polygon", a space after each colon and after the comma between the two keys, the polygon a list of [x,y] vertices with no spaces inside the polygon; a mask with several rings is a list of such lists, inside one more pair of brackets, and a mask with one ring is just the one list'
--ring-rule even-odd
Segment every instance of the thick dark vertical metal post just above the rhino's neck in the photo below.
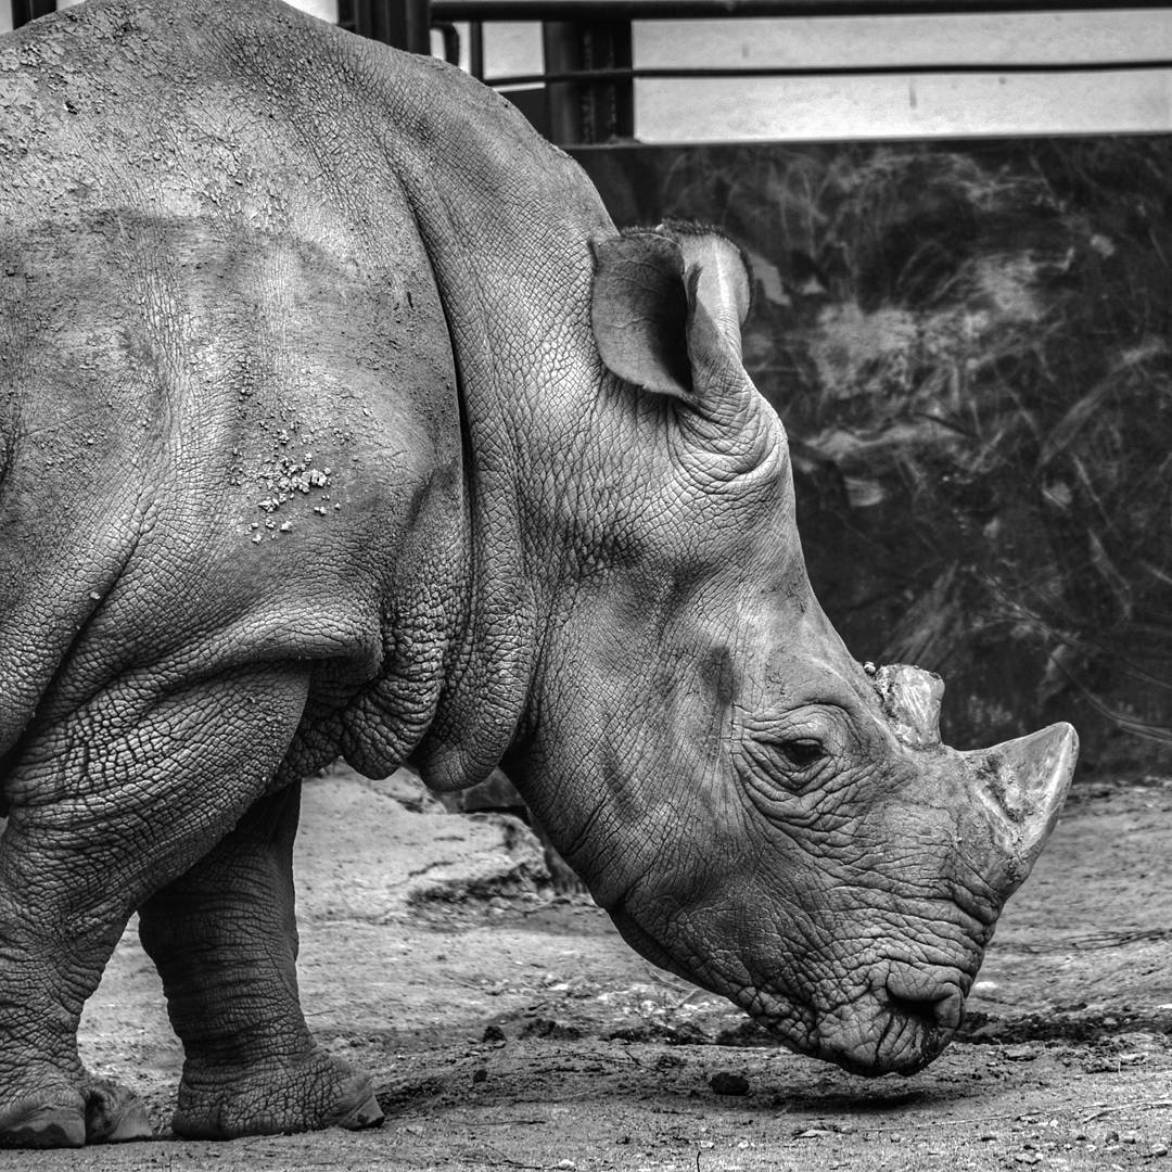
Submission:
{"label": "thick dark vertical metal post just above the rhino's neck", "polygon": [[[545,71],[629,69],[631,21],[547,21],[541,26]],[[605,143],[635,132],[634,82],[559,81],[546,86],[550,137],[563,145]]]}

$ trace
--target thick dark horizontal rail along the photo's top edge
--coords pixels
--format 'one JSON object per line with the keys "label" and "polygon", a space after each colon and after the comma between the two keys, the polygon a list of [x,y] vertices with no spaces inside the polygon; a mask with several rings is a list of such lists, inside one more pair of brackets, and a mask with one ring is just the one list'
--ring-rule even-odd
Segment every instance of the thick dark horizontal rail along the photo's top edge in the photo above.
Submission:
{"label": "thick dark horizontal rail along the photo's top edge", "polygon": [[702,16],[922,16],[1113,13],[1172,0],[431,0],[436,20],[681,20]]}

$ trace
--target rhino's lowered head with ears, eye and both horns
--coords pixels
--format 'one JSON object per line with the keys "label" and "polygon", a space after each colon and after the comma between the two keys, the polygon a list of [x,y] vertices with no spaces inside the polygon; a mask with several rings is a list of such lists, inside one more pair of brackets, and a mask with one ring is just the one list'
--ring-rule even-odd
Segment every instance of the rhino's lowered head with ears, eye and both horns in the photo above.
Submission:
{"label": "rhino's lowered head with ears, eye and both horns", "polygon": [[913,1071],[1055,823],[1074,729],[956,751],[938,676],[860,666],[741,361],[738,250],[673,225],[593,251],[608,373],[573,435],[595,488],[546,498],[547,633],[510,769],[647,958],[797,1050]]}

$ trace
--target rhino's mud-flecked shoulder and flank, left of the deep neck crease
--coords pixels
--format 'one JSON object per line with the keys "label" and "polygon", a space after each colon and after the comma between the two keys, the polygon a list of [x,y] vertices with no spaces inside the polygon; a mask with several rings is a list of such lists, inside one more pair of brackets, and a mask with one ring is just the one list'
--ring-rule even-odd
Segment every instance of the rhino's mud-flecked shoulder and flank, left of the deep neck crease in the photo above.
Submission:
{"label": "rhino's mud-flecked shoulder and flank, left of the deep neck crease", "polygon": [[265,0],[0,42],[0,749],[127,674],[313,659],[328,709],[442,657],[456,377],[352,42]]}

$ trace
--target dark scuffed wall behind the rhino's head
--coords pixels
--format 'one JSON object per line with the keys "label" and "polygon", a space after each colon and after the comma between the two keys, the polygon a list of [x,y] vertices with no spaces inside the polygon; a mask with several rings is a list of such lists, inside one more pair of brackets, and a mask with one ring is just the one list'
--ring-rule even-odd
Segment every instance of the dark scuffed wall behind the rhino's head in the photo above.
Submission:
{"label": "dark scuffed wall behind the rhino's head", "polygon": [[747,364],[856,655],[945,675],[958,744],[1061,717],[1091,765],[1172,766],[1172,139],[578,157],[619,224],[748,250]]}

